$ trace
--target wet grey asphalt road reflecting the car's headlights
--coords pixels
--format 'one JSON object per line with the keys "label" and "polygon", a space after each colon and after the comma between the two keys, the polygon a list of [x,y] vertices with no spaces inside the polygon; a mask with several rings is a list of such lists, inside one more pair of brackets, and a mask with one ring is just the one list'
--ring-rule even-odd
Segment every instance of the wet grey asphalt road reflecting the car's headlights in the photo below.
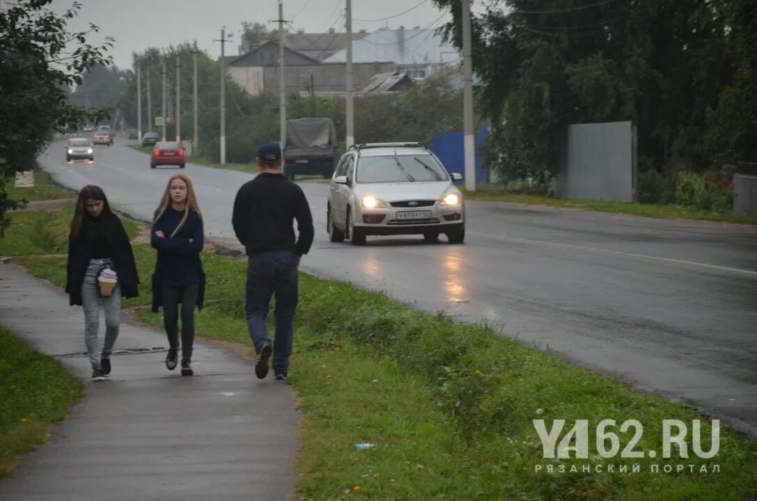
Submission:
{"label": "wet grey asphalt road reflecting the car's headlights", "polygon": [[[114,207],[142,219],[178,172],[151,170],[126,142],[95,155],[67,164],[55,144],[40,161],[61,185],[100,185]],[[231,210],[251,175],[191,164],[185,173],[207,237],[241,248]],[[369,237],[350,247],[326,235],[328,185],[301,186],[316,222],[304,271],[488,322],[757,435],[757,229],[469,202],[464,245]]]}

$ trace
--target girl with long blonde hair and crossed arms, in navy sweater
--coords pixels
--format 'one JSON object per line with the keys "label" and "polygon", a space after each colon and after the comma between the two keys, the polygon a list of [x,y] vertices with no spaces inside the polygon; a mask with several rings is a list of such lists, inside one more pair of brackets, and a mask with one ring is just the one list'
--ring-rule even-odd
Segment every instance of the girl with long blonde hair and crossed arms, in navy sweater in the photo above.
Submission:
{"label": "girl with long blonde hair and crossed arms, in navy sweater", "polygon": [[182,174],[173,176],[155,211],[150,243],[157,249],[152,276],[152,310],[163,307],[168,335],[166,367],[173,371],[179,352],[179,304],[182,305],[182,375],[193,375],[192,345],[195,341],[195,305],[202,309],[205,274],[200,253],[204,243],[202,214],[192,182]]}

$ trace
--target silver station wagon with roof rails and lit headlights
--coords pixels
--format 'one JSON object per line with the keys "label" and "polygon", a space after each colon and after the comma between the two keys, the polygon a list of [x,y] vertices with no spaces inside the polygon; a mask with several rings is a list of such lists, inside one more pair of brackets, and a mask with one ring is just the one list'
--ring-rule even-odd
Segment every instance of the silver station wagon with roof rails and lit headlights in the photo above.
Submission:
{"label": "silver station wagon with roof rails and lit headlights", "polygon": [[362,245],[367,235],[423,235],[450,244],[466,236],[463,194],[438,158],[421,143],[350,147],[332,176],[326,207],[331,241]]}

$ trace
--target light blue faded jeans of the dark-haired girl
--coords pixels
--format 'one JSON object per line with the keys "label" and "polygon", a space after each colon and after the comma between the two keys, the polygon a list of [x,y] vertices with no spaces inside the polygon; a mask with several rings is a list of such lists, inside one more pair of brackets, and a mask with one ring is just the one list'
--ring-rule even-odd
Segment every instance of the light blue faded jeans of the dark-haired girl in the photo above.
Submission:
{"label": "light blue faded jeans of the dark-haired girl", "polygon": [[84,341],[92,369],[100,366],[100,357],[110,355],[118,338],[121,316],[121,288],[116,285],[109,297],[103,297],[105,305],[105,342],[102,352],[98,351],[97,331],[100,326],[100,288],[97,277],[104,266],[113,266],[111,260],[90,260],[82,284],[82,306],[84,309]]}

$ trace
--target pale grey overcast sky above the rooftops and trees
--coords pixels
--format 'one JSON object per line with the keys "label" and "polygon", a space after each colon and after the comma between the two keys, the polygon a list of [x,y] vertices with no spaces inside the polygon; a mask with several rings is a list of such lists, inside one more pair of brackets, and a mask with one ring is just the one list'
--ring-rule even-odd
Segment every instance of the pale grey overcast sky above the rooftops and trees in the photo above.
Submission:
{"label": "pale grey overcast sky above the rooftops and trees", "polygon": [[[421,0],[353,0],[353,30],[375,31],[383,26],[435,27],[450,19],[427,0],[412,11],[390,20],[367,22],[394,16],[407,11]],[[69,23],[72,30],[82,30],[89,23],[100,26],[100,33],[91,36],[90,43],[102,42],[105,36],[116,39],[110,54],[118,67],[132,64],[132,52],[156,46],[177,45],[197,40],[198,47],[220,55],[220,30],[226,25],[233,33],[232,43],[226,44],[226,54],[238,53],[242,21],[267,23],[276,28],[277,0],[78,0],[82,4],[79,17]],[[56,12],[70,7],[73,0],[53,0]],[[482,3],[482,2],[476,2]],[[322,33],[334,27],[344,31],[344,0],[285,0],[284,17],[295,30]]]}

